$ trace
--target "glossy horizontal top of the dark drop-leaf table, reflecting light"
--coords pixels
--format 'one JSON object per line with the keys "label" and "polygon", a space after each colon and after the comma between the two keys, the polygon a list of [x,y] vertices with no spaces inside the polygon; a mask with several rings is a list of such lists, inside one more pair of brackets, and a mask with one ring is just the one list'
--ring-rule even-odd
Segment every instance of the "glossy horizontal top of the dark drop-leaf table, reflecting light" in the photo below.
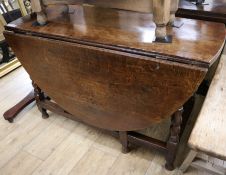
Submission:
{"label": "glossy horizontal top of the dark drop-leaf table, reflecting light", "polygon": [[62,15],[61,8],[49,8],[47,14],[50,22],[46,26],[33,26],[35,17],[27,16],[7,25],[7,30],[154,55],[158,59],[174,62],[204,64],[205,67],[218,58],[225,40],[223,24],[178,19],[184,23],[181,28],[167,28],[167,33],[173,36],[172,44],[152,43],[155,25],[150,14],[71,6],[70,11],[74,13]]}

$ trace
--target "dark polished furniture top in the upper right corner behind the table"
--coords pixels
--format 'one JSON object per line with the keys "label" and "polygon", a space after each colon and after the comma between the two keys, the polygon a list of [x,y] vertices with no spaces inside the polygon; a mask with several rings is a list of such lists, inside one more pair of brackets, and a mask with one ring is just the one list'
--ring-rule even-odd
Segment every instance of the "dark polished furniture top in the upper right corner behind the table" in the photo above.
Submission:
{"label": "dark polished furniture top in the upper right corner behind the table", "polygon": [[205,0],[206,5],[195,5],[191,2],[180,0],[176,16],[226,24],[226,0]]}

